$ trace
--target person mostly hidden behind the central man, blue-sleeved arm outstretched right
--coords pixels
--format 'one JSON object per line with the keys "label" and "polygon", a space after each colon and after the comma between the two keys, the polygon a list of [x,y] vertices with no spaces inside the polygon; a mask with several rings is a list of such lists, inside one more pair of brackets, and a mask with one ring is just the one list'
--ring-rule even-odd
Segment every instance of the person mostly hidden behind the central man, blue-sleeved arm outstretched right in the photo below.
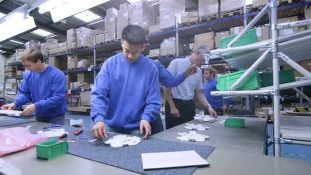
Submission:
{"label": "person mostly hidden behind the central man, blue-sleeved arm outstretched right", "polygon": [[[142,54],[147,56],[147,55],[149,55],[149,51],[150,51],[149,39],[148,39],[148,37],[146,37],[145,44],[144,44],[144,51]],[[156,67],[159,71],[160,83],[162,85],[168,87],[168,88],[172,88],[172,87],[180,85],[182,82],[185,81],[185,79],[188,76],[196,73],[196,65],[195,64],[189,65],[188,69],[179,75],[172,75],[167,69],[165,69],[165,67],[163,66],[163,64],[160,63],[160,61],[153,60],[153,63],[154,63],[154,65],[156,65]],[[154,122],[150,123],[150,125],[151,125],[151,133],[152,134],[157,134],[157,133],[160,133],[164,130],[160,114],[158,114],[156,116],[156,120]]]}

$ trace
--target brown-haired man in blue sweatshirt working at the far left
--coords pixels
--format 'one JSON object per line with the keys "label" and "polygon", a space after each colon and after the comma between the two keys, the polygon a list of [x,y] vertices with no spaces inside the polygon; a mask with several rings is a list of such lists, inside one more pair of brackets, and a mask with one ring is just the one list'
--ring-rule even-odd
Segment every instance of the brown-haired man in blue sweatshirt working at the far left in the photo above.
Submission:
{"label": "brown-haired man in blue sweatshirt working at the far left", "polygon": [[35,112],[37,121],[64,124],[67,104],[66,78],[63,72],[46,64],[38,50],[27,49],[19,57],[26,69],[19,85],[19,94],[2,109],[13,110],[16,106],[32,102],[21,115]]}

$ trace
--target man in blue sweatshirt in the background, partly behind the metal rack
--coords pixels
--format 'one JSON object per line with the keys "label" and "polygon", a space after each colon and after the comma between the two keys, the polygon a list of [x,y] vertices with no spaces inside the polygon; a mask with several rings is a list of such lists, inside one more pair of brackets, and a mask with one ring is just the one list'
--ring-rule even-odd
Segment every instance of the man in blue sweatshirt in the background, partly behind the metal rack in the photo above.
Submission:
{"label": "man in blue sweatshirt in the background, partly behind the metal rack", "polygon": [[[224,98],[222,96],[211,96],[211,91],[217,91],[217,78],[215,78],[216,71],[212,68],[204,69],[204,85],[203,94],[208,102],[211,104],[217,115],[222,116],[229,110],[230,102],[232,99],[226,99],[224,104]],[[209,115],[209,112],[205,110],[205,115]]]}

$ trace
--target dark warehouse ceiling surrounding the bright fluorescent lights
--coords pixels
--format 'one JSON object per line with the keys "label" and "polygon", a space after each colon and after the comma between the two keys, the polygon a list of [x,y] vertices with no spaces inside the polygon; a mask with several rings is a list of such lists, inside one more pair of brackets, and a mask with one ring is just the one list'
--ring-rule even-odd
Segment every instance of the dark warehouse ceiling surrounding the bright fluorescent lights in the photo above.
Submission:
{"label": "dark warehouse ceiling surrounding the bright fluorescent lights", "polygon": [[[135,2],[137,0],[112,0],[106,2],[102,5],[96,6],[94,8],[89,9],[91,12],[95,13],[96,15],[100,16],[101,19],[93,21],[91,23],[85,23],[84,21],[76,18],[76,17],[68,17],[61,20],[58,23],[53,23],[51,18],[50,12],[40,14],[38,13],[38,9],[34,9],[30,12],[30,15],[34,17],[36,28],[32,31],[37,29],[42,29],[47,32],[52,33],[53,35],[48,37],[38,36],[36,34],[27,32],[21,33],[17,36],[14,36],[8,40],[0,41],[0,50],[6,51],[5,54],[12,54],[15,53],[15,49],[21,49],[25,46],[21,43],[25,43],[29,40],[39,40],[44,42],[48,38],[55,38],[58,39],[59,42],[63,42],[66,40],[66,30],[72,28],[79,28],[81,26],[88,27],[91,29],[104,29],[104,17],[106,16],[106,10],[109,8],[116,8],[119,9],[120,4]],[[1,2],[1,1],[0,1]],[[13,11],[14,9],[18,8],[21,5],[28,4],[32,5],[36,2],[36,0],[5,0],[0,3],[0,15],[8,14],[9,12]],[[159,16],[159,0],[151,1],[153,7],[156,8],[157,16]],[[186,9],[195,9],[197,8],[198,0],[186,0]],[[13,41],[12,41],[13,40]],[[17,42],[14,42],[17,41]]]}

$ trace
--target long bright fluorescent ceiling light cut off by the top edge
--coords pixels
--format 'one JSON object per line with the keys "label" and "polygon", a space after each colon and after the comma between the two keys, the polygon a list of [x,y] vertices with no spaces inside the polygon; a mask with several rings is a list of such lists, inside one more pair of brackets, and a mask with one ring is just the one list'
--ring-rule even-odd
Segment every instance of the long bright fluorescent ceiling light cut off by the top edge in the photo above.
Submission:
{"label": "long bright fluorescent ceiling light cut off by the top edge", "polygon": [[[49,0],[46,3],[51,3],[52,0]],[[85,1],[85,0],[58,0],[56,3],[57,7],[55,7],[55,4],[50,7],[50,12],[52,19],[54,23],[60,21],[61,19],[64,19],[66,17],[72,16],[74,14],[83,12],[87,9],[93,8],[95,6],[101,5],[103,3],[106,3],[110,0],[92,0],[92,1]],[[54,2],[54,0],[53,0]],[[61,3],[60,3],[61,2]],[[42,4],[40,6],[45,5]],[[39,8],[40,8],[39,6]],[[44,6],[43,6],[44,7]],[[42,10],[44,11],[44,10]]]}

